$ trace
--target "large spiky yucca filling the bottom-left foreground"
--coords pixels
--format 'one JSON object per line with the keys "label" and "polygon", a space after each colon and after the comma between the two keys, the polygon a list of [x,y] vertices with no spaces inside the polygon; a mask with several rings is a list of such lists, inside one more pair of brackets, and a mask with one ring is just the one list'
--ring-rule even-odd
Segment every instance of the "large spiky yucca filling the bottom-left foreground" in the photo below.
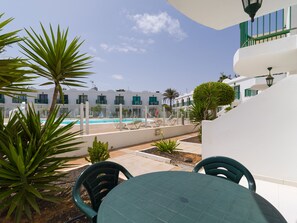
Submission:
{"label": "large spiky yucca filling the bottom-left foreground", "polygon": [[55,194],[61,189],[55,182],[73,159],[63,154],[81,142],[75,139],[79,132],[70,131],[74,123],[61,126],[67,114],[56,118],[58,111],[56,107],[44,124],[30,106],[5,125],[0,115],[0,211],[7,218],[14,215],[15,222],[24,214],[31,219],[32,210],[40,213],[39,200],[59,201]]}

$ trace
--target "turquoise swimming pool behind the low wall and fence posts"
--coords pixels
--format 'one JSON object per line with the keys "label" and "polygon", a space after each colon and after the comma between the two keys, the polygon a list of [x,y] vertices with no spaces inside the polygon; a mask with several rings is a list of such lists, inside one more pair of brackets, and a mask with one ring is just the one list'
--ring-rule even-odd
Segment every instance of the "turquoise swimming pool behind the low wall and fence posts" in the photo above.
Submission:
{"label": "turquoise swimming pool behind the low wall and fence posts", "polygon": [[[122,122],[124,123],[132,123],[134,121],[142,121],[144,122],[144,118],[123,118]],[[149,121],[149,120],[148,120]],[[45,122],[45,121],[43,121]],[[65,119],[61,124],[62,125],[67,125],[69,123],[75,122],[76,125],[80,125],[80,120],[79,119]],[[100,125],[100,124],[112,124],[112,123],[119,123],[120,119],[119,118],[114,118],[114,119],[89,119],[89,124],[90,125]],[[84,120],[84,124],[86,124],[86,120]]]}

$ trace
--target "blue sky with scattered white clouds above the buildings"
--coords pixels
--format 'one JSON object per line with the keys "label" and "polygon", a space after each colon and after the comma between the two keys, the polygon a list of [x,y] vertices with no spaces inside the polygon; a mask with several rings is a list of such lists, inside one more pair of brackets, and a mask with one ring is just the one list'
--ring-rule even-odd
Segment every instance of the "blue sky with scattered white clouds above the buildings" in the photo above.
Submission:
{"label": "blue sky with scattered white clouds above the buildings", "polygon": [[[239,27],[204,27],[166,0],[0,1],[4,18],[15,18],[5,31],[32,27],[40,33],[40,22],[47,29],[60,24],[69,27],[69,41],[84,40],[81,52],[94,57],[89,87],[186,93],[217,81],[220,72],[234,75]],[[19,47],[4,56],[21,56]]]}

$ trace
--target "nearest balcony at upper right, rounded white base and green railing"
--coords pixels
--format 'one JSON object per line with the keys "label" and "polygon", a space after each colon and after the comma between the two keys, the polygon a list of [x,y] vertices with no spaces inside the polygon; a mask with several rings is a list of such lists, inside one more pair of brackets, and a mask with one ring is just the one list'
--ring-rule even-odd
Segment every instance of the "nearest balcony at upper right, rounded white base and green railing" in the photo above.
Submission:
{"label": "nearest balcony at upper right, rounded white base and green railing", "polygon": [[243,76],[297,70],[297,7],[288,7],[240,24],[240,48],[234,55],[234,71]]}

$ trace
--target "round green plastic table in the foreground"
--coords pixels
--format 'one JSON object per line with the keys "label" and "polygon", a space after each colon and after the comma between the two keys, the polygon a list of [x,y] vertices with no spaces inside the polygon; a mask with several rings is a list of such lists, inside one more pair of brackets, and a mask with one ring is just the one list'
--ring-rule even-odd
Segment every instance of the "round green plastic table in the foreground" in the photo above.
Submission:
{"label": "round green plastic table in the foreground", "polygon": [[99,223],[286,222],[260,195],[214,176],[168,171],[141,175],[104,198]]}

